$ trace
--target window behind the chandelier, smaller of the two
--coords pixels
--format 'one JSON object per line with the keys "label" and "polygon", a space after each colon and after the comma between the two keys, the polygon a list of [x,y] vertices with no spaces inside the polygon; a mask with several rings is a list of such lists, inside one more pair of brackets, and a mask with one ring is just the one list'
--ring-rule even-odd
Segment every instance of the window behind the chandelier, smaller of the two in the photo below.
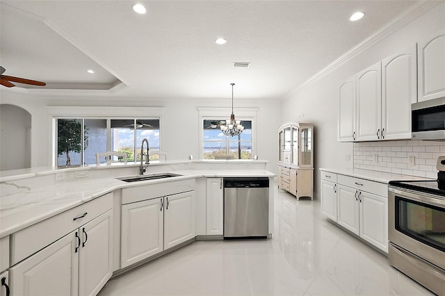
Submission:
{"label": "window behind the chandelier, smaller of the two", "polygon": [[244,131],[229,137],[220,130],[222,118],[202,120],[202,158],[214,159],[218,155],[234,156],[235,159],[252,159],[252,120],[241,120]]}

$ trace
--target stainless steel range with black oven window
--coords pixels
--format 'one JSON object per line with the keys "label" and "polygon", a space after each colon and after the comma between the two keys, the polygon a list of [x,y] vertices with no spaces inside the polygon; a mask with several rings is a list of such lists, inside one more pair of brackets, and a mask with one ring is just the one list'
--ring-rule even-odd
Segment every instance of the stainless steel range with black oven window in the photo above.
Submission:
{"label": "stainless steel range with black oven window", "polygon": [[391,181],[388,192],[389,262],[437,295],[445,295],[444,186]]}

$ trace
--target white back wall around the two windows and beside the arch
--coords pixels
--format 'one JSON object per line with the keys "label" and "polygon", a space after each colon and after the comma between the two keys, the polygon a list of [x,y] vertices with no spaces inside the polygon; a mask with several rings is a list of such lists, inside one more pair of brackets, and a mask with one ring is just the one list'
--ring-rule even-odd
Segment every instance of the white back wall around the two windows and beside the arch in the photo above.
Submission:
{"label": "white back wall around the two windows and beside the arch", "polygon": [[[280,104],[276,101],[259,101],[255,99],[235,100],[236,108],[259,108],[257,112],[257,150],[254,154],[262,160],[270,161],[267,169],[276,172],[277,128],[281,124]],[[51,165],[51,117],[47,106],[126,106],[134,107],[164,107],[161,120],[161,146],[166,151],[169,160],[186,160],[189,155],[199,158],[200,135],[199,113],[197,107],[229,108],[231,102],[209,101],[202,99],[168,99],[164,101],[152,99],[110,98],[105,96],[88,96],[69,94],[65,96],[44,97],[42,94],[29,94],[1,90],[1,104],[21,106],[32,115],[33,136],[31,140],[31,167]],[[98,114],[104,115],[104,114]],[[227,113],[227,117],[229,117]],[[177,149],[180,145],[180,149]]]}

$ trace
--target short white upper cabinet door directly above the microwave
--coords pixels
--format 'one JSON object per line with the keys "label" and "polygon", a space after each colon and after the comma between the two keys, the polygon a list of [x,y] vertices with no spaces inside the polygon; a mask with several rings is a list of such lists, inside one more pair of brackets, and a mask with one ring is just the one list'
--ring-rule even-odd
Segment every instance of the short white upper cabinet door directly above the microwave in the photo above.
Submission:
{"label": "short white upper cabinet door directly above the microwave", "polygon": [[418,101],[445,97],[445,28],[418,43]]}

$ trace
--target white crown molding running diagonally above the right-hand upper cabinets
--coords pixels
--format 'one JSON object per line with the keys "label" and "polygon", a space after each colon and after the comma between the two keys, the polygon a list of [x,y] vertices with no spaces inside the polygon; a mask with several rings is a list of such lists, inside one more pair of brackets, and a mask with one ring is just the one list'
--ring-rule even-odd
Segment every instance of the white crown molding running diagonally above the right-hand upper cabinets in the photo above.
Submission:
{"label": "white crown molding running diagonally above the right-hand upper cabinets", "polygon": [[419,1],[418,3],[414,4],[410,8],[408,8],[404,13],[393,19],[389,24],[383,26],[378,31],[375,31],[372,35],[370,35],[368,38],[360,42],[359,44],[355,45],[352,49],[349,51],[346,51],[345,54],[337,58],[337,60],[334,60],[334,62],[327,65],[325,68],[321,69],[320,72],[312,76],[311,78],[307,79],[304,83],[300,84],[297,88],[294,88],[286,94],[284,99],[289,99],[289,96],[296,92],[297,90],[300,90],[301,88],[310,85],[319,79],[322,79],[327,74],[330,74],[335,69],[341,67],[342,65],[346,64],[349,60],[352,60],[359,54],[362,54],[362,52],[366,51],[367,49],[373,47],[378,42],[384,40],[392,33],[398,31],[400,28],[403,28],[403,26],[406,26],[410,22],[412,22],[414,19],[420,17],[424,13],[426,13],[428,10],[431,10],[432,8],[435,8],[435,6],[438,6],[440,3],[443,3],[444,0],[436,1]]}

